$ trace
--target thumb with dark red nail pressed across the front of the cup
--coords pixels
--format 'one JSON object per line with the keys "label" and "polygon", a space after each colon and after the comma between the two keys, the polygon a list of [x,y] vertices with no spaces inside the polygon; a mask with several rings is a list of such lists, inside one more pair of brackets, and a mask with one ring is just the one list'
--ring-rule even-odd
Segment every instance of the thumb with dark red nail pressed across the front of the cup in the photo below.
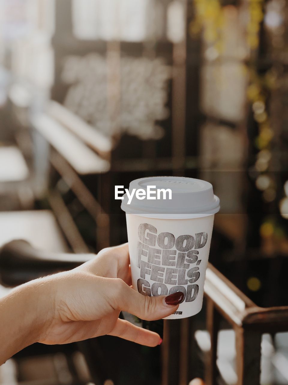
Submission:
{"label": "thumb with dark red nail pressed across the front of the cup", "polygon": [[142,320],[160,320],[173,314],[184,298],[182,291],[168,296],[144,296],[126,285],[124,281],[122,282],[124,285],[121,284],[118,295],[118,309],[134,314]]}

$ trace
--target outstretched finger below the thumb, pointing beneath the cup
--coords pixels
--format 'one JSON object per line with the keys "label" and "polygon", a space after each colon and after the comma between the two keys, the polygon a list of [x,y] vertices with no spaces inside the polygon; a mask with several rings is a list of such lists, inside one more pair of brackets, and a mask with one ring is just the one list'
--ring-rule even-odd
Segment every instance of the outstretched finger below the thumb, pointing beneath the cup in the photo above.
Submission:
{"label": "outstretched finger below the thumb, pointing beneath the cup", "polygon": [[154,333],[154,331],[142,329],[139,326],[133,325],[131,322],[120,320],[119,318],[113,331],[111,331],[109,335],[146,346],[157,346],[162,341],[159,334]]}

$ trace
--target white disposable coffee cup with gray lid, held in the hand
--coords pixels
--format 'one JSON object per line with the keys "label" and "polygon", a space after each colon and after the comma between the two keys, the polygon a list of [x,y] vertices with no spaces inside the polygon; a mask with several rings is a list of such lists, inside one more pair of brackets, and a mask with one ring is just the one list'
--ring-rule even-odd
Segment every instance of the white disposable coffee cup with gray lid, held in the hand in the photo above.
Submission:
{"label": "white disposable coffee cup with gray lid, held in the hand", "polygon": [[[138,197],[134,193],[129,199],[125,194],[121,204],[126,212],[132,287],[149,296],[182,291],[179,308],[166,319],[199,313],[214,214],[220,209],[212,184],[185,177],[149,177],[130,183],[130,197],[133,189],[141,189]],[[147,199],[149,189],[155,191],[150,198],[156,199]],[[163,192],[167,189],[171,199]]]}

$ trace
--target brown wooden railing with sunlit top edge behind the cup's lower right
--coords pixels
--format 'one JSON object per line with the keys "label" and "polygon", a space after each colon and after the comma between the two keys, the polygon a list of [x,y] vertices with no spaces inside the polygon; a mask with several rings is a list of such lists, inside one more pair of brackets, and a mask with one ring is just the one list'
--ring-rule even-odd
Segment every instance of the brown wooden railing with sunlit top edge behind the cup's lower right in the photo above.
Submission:
{"label": "brown wooden railing with sunlit top edge behind the cup's lower right", "polygon": [[[218,332],[224,319],[235,331],[237,385],[259,385],[262,334],[288,330],[288,306],[255,305],[211,264],[204,293],[206,328],[211,341],[208,357],[204,358],[205,383],[225,383],[217,368]],[[162,385],[187,385],[192,380],[196,329],[194,317],[164,321]]]}

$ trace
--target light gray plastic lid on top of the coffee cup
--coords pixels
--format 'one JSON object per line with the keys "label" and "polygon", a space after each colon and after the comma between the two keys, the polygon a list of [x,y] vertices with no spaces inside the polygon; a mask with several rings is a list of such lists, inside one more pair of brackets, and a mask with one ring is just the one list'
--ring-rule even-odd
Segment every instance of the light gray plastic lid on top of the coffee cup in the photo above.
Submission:
{"label": "light gray plastic lid on top of the coffee cup", "polygon": [[[219,211],[219,198],[214,195],[212,184],[200,179],[174,176],[159,176],[135,179],[130,182],[129,194],[132,189],[144,189],[156,186],[156,189],[170,189],[172,199],[137,199],[136,192],[128,204],[128,196],[124,194],[121,209],[128,214],[149,218],[199,218],[215,214]],[[154,190],[154,188],[153,188]],[[157,196],[157,194],[154,194]]]}

